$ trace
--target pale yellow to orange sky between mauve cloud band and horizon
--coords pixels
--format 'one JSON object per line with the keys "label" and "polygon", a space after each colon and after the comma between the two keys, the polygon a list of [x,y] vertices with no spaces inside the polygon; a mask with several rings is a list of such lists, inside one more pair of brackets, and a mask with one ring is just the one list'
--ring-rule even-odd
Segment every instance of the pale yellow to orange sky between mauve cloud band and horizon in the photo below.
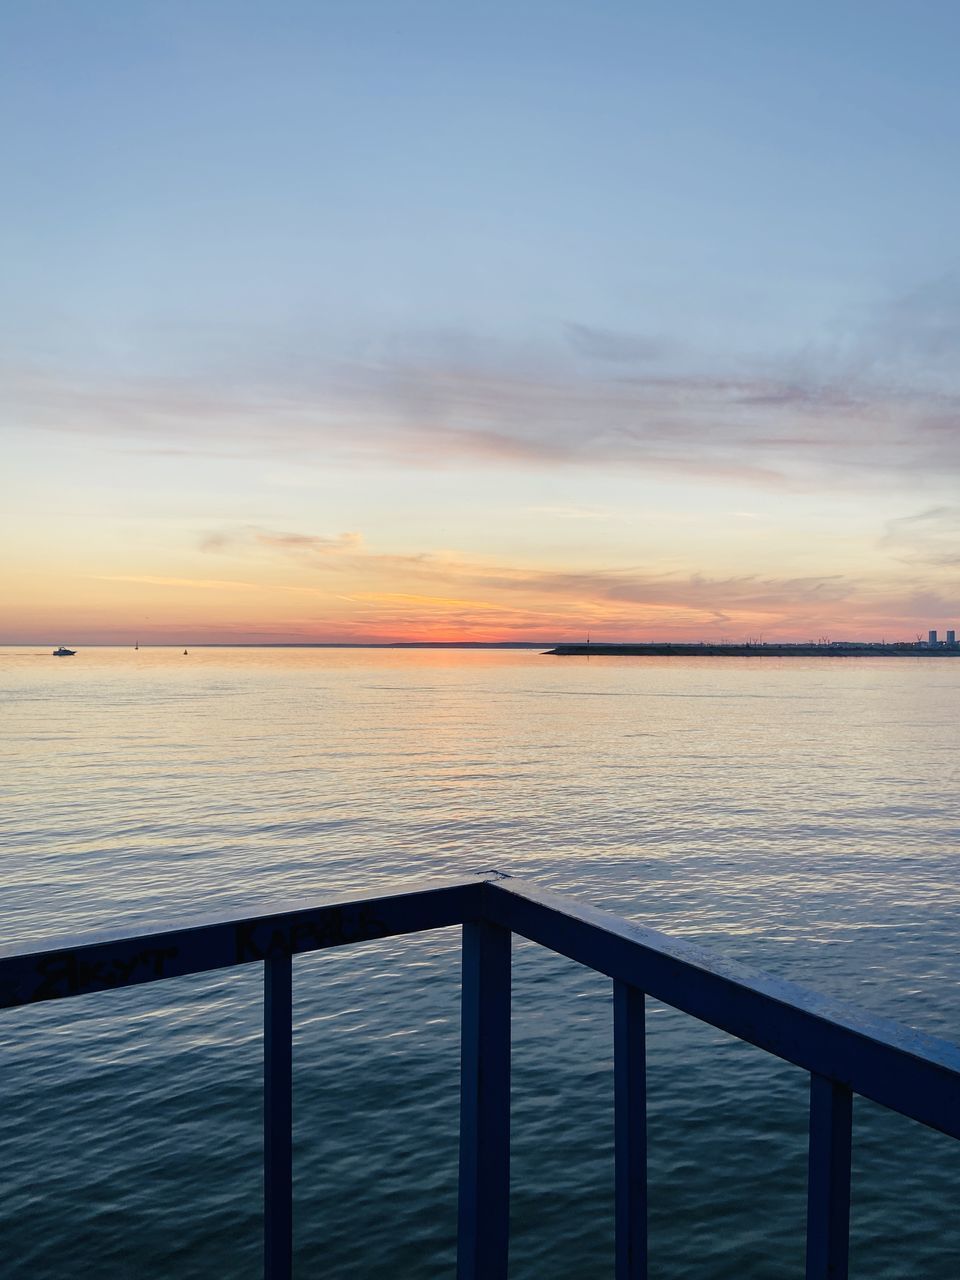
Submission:
{"label": "pale yellow to orange sky between mauve cloud band and horizon", "polygon": [[952,508],[915,515],[910,494],[878,521],[872,494],[626,470],[401,485],[346,467],[264,488],[252,463],[197,462],[180,509],[182,461],[120,454],[116,485],[87,495],[88,453],[42,445],[24,443],[0,512],[20,548],[0,562],[0,643],[913,640],[956,621]]}

